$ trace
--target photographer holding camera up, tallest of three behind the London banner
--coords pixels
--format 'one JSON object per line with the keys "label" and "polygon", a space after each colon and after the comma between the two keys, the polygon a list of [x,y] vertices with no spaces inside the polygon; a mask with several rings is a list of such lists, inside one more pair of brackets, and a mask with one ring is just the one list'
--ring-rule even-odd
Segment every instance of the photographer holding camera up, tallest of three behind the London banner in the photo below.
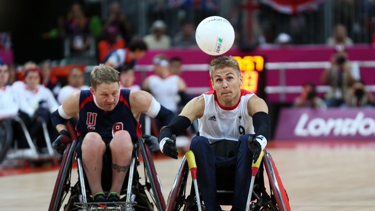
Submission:
{"label": "photographer holding camera up, tallest of three behind the London banner", "polygon": [[325,95],[327,106],[342,105],[344,96],[348,95],[352,84],[359,78],[358,65],[348,60],[348,54],[343,45],[337,45],[336,53],[331,58],[331,67],[327,68],[322,75],[323,84],[331,86],[331,90]]}

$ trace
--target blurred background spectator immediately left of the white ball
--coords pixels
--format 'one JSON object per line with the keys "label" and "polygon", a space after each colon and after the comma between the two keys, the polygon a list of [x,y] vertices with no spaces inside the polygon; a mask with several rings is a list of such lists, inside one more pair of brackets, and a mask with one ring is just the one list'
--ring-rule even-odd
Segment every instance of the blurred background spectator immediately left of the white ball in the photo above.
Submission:
{"label": "blurred background spectator immediately left of the white ball", "polygon": [[191,23],[185,23],[182,31],[177,32],[173,39],[173,46],[175,47],[193,47],[197,46],[195,41],[194,26]]}

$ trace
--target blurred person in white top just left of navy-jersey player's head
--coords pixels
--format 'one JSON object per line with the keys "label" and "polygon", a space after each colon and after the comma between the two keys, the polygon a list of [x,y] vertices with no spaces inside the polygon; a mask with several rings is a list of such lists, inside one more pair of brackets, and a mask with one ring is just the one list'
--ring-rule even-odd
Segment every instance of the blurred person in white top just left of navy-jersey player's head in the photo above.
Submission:
{"label": "blurred person in white top just left of navy-jersey player's head", "polygon": [[83,85],[83,71],[77,67],[70,70],[68,75],[68,84],[62,87],[57,95],[57,101],[62,104],[65,98],[76,90],[90,89],[87,85]]}

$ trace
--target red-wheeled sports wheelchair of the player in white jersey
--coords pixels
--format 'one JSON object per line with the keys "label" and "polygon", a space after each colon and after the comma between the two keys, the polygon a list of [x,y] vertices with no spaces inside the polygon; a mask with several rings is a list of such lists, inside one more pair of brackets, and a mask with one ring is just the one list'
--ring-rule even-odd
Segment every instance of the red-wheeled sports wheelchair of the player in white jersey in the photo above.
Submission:
{"label": "red-wheeled sports wheelchair of the player in white jersey", "polygon": [[[233,157],[237,153],[236,141],[220,141],[211,148],[215,149],[215,156]],[[195,161],[194,161],[195,162]],[[266,190],[264,180],[264,169],[266,169],[269,189]],[[235,162],[218,161],[216,163],[216,187],[220,205],[230,205],[234,187]],[[202,197],[196,196],[196,192],[191,185],[190,193],[187,193],[187,178],[189,168],[187,156],[181,161],[177,175],[175,177],[171,191],[167,199],[166,211],[205,211]],[[232,179],[228,179],[232,178]],[[249,178],[250,179],[250,178]],[[244,193],[248,195],[249,193]],[[264,150],[264,156],[255,176],[255,185],[251,194],[250,211],[290,211],[289,199],[283,187],[279,173],[271,154]],[[197,199],[199,202],[197,202]],[[249,199],[249,198],[248,198]],[[201,206],[198,208],[198,206]]]}

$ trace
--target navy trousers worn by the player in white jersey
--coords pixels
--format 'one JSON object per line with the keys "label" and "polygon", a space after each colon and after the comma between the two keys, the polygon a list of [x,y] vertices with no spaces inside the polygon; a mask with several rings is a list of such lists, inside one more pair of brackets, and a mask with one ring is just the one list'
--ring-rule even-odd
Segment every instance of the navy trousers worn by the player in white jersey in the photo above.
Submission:
{"label": "navy trousers worn by the player in white jersey", "polygon": [[216,157],[206,137],[195,136],[191,140],[190,149],[194,152],[197,164],[198,186],[207,211],[221,211],[216,194],[215,163],[233,159],[236,162],[236,171],[231,203],[234,208],[245,210],[251,181],[252,152],[248,147],[250,135],[252,134],[240,137],[237,142],[237,155],[232,158]]}

